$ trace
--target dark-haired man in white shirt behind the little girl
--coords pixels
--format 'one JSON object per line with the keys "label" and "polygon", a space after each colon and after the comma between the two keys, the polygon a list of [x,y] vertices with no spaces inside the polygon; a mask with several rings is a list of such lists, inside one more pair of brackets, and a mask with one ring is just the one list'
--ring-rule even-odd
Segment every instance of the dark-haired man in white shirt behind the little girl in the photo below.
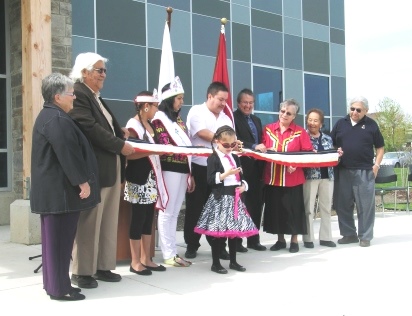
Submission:
{"label": "dark-haired man in white shirt behind the little girl", "polygon": [[[234,128],[232,120],[223,112],[226,101],[229,97],[228,88],[221,82],[212,82],[207,89],[207,100],[203,104],[192,106],[187,115],[187,128],[189,136],[194,146],[204,146],[211,148],[211,141],[216,130],[229,125]],[[225,144],[226,145],[226,144]],[[230,144],[227,144],[229,147]],[[199,235],[194,232],[194,228],[199,220],[203,206],[210,195],[210,187],[207,185],[207,157],[192,157],[192,176],[196,187],[192,193],[186,193],[186,213],[184,223],[184,239],[187,244],[186,258],[195,258],[200,247]],[[211,244],[210,236],[206,236]],[[221,238],[220,259],[229,260],[229,253],[226,250],[226,239]]]}

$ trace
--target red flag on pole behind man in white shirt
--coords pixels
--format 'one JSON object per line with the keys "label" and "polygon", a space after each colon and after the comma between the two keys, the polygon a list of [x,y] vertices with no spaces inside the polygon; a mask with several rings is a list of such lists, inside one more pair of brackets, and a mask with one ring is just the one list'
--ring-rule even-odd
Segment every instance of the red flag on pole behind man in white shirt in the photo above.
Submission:
{"label": "red flag on pole behind man in white shirt", "polygon": [[220,81],[224,83],[227,89],[229,90],[229,97],[227,99],[226,107],[223,111],[227,116],[230,117],[230,119],[233,122],[234,119],[232,97],[230,95],[229,74],[227,72],[225,26],[223,24],[220,29],[219,44],[217,46],[216,63],[212,81]]}

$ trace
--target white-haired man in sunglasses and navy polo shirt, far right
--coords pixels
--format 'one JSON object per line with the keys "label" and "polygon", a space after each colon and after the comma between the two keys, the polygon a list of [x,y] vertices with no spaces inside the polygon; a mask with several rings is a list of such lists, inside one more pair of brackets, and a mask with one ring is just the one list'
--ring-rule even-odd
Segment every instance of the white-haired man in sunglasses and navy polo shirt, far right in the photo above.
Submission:
{"label": "white-haired man in sunglasses and navy polo shirt, far right", "polygon": [[[353,98],[349,114],[336,122],[332,140],[344,154],[335,168],[334,209],[338,214],[343,238],[339,244],[358,243],[369,247],[375,222],[375,178],[383,158],[384,140],[378,124],[366,116],[368,100]],[[376,160],[373,162],[374,149]],[[353,217],[354,205],[358,214],[358,231]]]}

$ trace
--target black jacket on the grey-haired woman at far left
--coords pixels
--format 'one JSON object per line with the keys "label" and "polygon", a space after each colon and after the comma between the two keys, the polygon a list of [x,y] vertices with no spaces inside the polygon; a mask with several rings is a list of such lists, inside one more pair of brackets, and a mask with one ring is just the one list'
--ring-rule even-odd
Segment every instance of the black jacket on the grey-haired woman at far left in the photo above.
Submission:
{"label": "black jacket on the grey-haired woman at far left", "polygon": [[[30,206],[33,213],[88,210],[100,202],[97,161],[80,126],[55,104],[44,104],[33,127]],[[79,184],[90,196],[80,199]]]}

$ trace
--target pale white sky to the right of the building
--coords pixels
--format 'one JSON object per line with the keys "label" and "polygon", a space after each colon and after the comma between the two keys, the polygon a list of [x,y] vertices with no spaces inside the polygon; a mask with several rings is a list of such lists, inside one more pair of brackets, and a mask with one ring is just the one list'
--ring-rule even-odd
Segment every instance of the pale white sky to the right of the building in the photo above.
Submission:
{"label": "pale white sky to the right of the building", "polygon": [[409,0],[345,0],[346,92],[369,112],[384,97],[412,115],[412,18]]}

